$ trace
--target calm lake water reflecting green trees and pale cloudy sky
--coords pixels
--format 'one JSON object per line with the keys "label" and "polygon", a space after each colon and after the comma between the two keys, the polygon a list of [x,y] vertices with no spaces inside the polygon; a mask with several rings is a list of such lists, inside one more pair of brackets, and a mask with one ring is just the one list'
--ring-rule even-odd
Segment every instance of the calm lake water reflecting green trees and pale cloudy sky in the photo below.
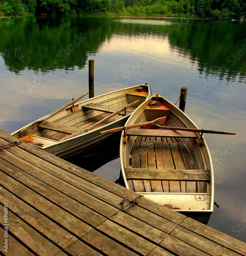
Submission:
{"label": "calm lake water reflecting green trees and pale cloudy sky", "polygon": [[[8,133],[87,92],[89,59],[95,95],[148,82],[175,103],[187,87],[185,112],[200,128],[236,133],[205,135],[220,206],[208,225],[246,242],[245,22],[2,18],[0,39],[0,129]],[[95,173],[115,181],[119,170],[115,159]]]}

